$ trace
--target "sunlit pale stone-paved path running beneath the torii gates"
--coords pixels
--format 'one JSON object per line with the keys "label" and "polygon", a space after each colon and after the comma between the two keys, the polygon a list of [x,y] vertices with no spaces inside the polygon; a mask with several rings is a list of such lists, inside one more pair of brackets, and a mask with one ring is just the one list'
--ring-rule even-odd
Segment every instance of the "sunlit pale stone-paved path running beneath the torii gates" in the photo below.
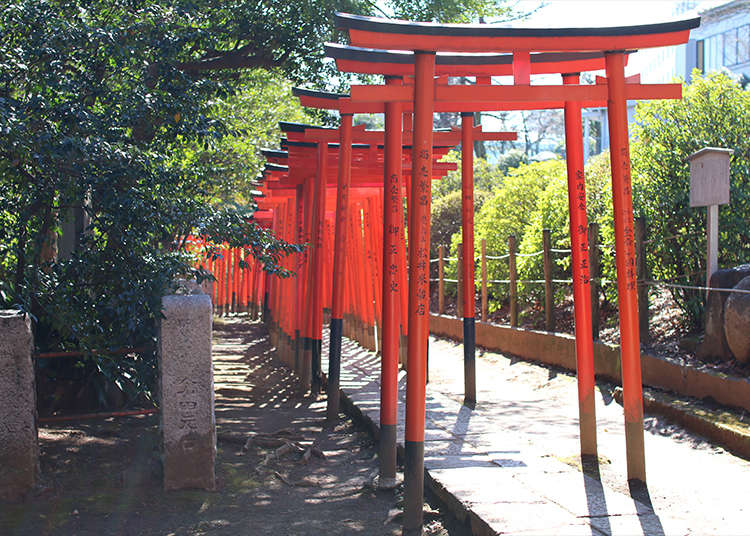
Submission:
{"label": "sunlit pale stone-paved path running beneath the torii gates", "polygon": [[[622,408],[610,386],[597,389],[600,464],[582,471],[573,377],[488,352],[477,360],[479,402],[470,410],[461,404],[462,359],[460,344],[431,338],[425,467],[476,533],[750,533],[747,461],[648,417],[649,483],[630,489]],[[343,363],[344,393],[377,423],[379,358],[345,340]],[[405,385],[402,372],[399,442]]]}

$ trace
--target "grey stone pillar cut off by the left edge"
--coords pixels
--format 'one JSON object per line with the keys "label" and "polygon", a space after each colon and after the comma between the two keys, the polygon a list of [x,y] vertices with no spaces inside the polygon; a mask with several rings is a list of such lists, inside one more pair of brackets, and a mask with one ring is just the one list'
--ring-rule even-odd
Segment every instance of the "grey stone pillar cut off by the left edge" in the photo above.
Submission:
{"label": "grey stone pillar cut off by the left edge", "polygon": [[0,310],[0,500],[18,500],[39,476],[31,320]]}

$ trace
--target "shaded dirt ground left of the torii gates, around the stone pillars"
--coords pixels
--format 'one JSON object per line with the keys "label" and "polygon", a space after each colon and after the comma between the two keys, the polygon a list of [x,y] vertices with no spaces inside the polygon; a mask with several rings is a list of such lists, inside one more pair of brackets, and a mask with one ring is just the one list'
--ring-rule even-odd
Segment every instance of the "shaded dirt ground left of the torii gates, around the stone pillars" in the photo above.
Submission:
{"label": "shaded dirt ground left of the torii gates, around the stone pillars", "polygon": [[[156,416],[49,426],[39,432],[44,485],[25,503],[0,505],[0,534],[400,534],[398,517],[389,521],[399,491],[369,485],[376,445],[350,420],[323,427],[325,398],[300,395],[260,324],[217,322],[214,369],[218,491],[162,491]],[[243,452],[259,433],[286,434],[302,450]],[[305,462],[310,447],[324,458],[311,449]],[[433,517],[427,534],[465,534]]]}

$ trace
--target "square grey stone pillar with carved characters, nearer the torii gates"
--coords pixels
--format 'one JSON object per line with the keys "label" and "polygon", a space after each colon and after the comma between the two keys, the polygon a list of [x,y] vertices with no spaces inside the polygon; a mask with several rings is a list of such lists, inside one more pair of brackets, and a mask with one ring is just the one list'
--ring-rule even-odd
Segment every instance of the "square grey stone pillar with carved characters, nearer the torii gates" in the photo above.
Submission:
{"label": "square grey stone pillar with carved characters, nearer the torii gates", "polygon": [[164,489],[216,489],[211,299],[162,298],[159,381]]}

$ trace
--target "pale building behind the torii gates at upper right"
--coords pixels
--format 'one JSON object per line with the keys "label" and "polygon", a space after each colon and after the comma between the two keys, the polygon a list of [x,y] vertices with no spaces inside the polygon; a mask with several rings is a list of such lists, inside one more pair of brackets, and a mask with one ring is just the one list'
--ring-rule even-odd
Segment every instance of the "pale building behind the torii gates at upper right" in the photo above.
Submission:
{"label": "pale building behind the torii gates at upper right", "polygon": [[[683,0],[675,5],[675,18],[700,15],[701,25],[690,32],[685,45],[634,54],[629,67],[640,72],[644,83],[689,81],[693,69],[703,73],[726,69],[750,80],[750,0]],[[628,103],[628,121],[632,123],[635,102]],[[606,108],[583,111],[584,154],[589,156],[609,148]],[[599,136],[592,143],[591,129],[598,123]]]}

